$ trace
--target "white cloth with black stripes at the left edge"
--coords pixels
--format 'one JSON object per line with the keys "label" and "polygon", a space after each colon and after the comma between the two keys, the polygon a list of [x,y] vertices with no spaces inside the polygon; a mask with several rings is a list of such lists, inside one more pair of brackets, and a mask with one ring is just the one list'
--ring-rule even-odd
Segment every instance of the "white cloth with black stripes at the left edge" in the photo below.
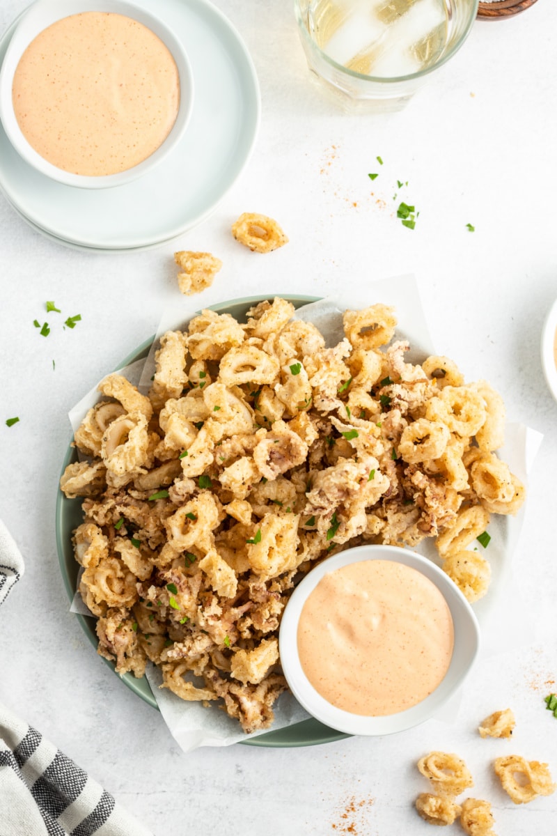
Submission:
{"label": "white cloth with black stripes at the left edge", "polygon": [[[0,520],[0,606],[23,558]],[[0,703],[0,836],[153,836],[32,726]]]}

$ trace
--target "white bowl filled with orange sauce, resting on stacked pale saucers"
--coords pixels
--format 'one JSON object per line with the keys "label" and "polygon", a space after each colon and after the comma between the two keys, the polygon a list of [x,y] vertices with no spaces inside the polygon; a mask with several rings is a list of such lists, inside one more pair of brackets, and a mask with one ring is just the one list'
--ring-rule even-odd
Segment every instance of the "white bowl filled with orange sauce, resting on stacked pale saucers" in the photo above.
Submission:
{"label": "white bowl filled with orange sauce, resting on stacked pale saucers", "polygon": [[193,105],[185,49],[126,0],[39,0],[0,72],[0,120],[18,153],[67,186],[121,186],[184,135]]}

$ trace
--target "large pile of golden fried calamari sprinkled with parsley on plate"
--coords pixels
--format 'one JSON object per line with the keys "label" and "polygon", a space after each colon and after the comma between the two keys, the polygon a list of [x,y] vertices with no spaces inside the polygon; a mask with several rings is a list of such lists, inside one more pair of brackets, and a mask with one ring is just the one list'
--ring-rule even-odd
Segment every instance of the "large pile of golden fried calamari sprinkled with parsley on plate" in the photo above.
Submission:
{"label": "large pile of golden fried calamari sprinkled with parsley on plate", "polygon": [[489,563],[466,550],[524,487],[495,455],[504,407],[445,357],[405,362],[392,308],[343,315],[326,348],[281,298],[247,323],[205,310],[160,340],[149,397],[120,375],[75,433],[87,460],[74,533],[99,653],[160,665],[184,700],[224,700],[246,732],[285,690],[277,630],[299,579],[362,543],[435,538],[468,599]]}

